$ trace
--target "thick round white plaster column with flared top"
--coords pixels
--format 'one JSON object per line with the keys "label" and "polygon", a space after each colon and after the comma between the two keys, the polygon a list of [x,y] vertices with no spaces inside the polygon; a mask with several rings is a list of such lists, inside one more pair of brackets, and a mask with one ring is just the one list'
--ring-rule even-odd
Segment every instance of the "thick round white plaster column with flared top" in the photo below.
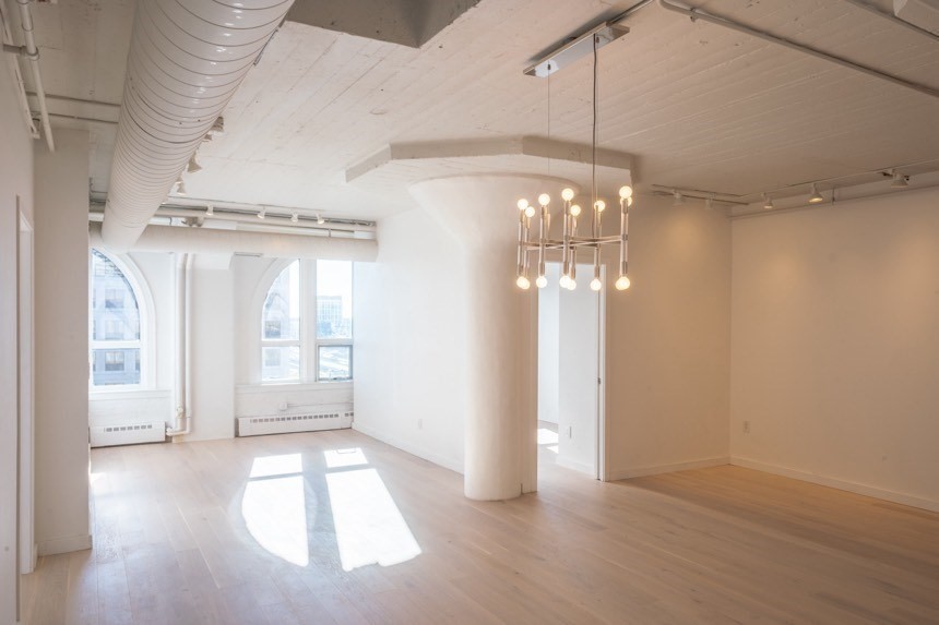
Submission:
{"label": "thick round white plaster column with flared top", "polygon": [[[415,183],[411,193],[459,242],[468,293],[464,492],[507,500],[536,490],[537,293],[515,286],[519,209],[572,183],[480,175]],[[433,262],[428,259],[428,262]],[[432,288],[432,285],[430,286]]]}

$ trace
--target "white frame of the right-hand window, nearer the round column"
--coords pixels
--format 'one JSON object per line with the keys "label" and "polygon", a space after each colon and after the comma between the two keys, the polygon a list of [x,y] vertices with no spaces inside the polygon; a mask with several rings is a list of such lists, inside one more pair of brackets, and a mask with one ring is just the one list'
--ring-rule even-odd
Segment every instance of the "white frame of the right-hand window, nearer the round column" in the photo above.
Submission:
{"label": "white frame of the right-hand window, nearer the round column", "polygon": [[[299,262],[300,273],[300,327],[299,339],[265,339],[264,338],[264,303],[268,301],[268,293],[274,281],[280,275],[289,267],[293,263]],[[349,338],[319,338],[317,332],[318,305],[317,305],[317,260],[311,259],[281,259],[273,263],[264,274],[258,289],[258,295],[254,298],[254,329],[252,335],[258,337],[258,344],[252,350],[253,376],[257,384],[261,385],[278,385],[278,384],[349,384],[355,380],[354,354],[355,354],[355,317],[352,321],[352,336]],[[355,263],[348,262],[352,289],[355,293]],[[264,356],[265,347],[299,347],[300,351],[300,373],[298,378],[264,378]],[[349,349],[349,376],[343,378],[321,378],[320,373],[320,347],[348,347]]]}

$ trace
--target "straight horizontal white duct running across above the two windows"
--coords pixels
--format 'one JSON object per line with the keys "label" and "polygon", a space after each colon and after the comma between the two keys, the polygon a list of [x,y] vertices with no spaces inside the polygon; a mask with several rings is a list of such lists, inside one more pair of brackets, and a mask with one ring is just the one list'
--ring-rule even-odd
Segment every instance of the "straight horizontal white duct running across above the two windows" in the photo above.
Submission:
{"label": "straight horizontal white duct running across above the two windows", "polygon": [[[104,227],[100,224],[88,224],[93,248],[104,243],[103,230]],[[373,239],[148,226],[131,250],[194,254],[241,253],[274,259],[322,259],[370,263],[378,256],[378,242]]]}

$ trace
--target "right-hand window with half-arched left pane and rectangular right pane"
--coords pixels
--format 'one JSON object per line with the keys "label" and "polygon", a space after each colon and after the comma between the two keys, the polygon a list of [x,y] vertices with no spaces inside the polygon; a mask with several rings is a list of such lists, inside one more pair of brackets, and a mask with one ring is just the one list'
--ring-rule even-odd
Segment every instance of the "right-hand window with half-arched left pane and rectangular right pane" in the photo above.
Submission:
{"label": "right-hand window with half-arched left pane and rectangular right pane", "polygon": [[350,262],[294,261],[281,271],[261,311],[262,382],[352,380],[352,296]]}

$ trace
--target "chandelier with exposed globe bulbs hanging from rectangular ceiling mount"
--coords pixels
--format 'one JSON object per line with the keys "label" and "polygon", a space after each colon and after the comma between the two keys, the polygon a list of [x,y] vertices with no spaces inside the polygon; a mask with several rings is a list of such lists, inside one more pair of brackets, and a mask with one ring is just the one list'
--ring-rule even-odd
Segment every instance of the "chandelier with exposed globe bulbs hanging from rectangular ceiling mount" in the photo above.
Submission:
{"label": "chandelier with exposed globe bulbs hanging from rectangular ceiling mount", "polygon": [[[519,200],[519,259],[518,259],[518,275],[515,285],[520,289],[528,289],[531,280],[528,279],[528,257],[530,253],[537,252],[538,256],[538,276],[535,279],[535,286],[544,288],[548,280],[545,277],[545,252],[547,250],[561,251],[561,279],[560,286],[574,290],[577,288],[577,254],[578,249],[590,250],[593,252],[593,279],[590,283],[591,289],[598,291],[603,288],[601,280],[601,264],[599,253],[603,245],[619,245],[619,276],[617,277],[615,287],[617,290],[626,290],[629,288],[629,277],[627,277],[627,238],[629,230],[629,207],[632,205],[632,188],[625,184],[619,189],[619,235],[604,237],[602,227],[603,212],[606,209],[606,202],[597,197],[596,192],[596,117],[597,117],[597,50],[615,40],[616,38],[629,32],[623,26],[617,26],[610,22],[605,22],[599,26],[589,31],[586,34],[578,37],[570,44],[561,46],[554,52],[545,57],[539,63],[532,65],[525,70],[526,74],[536,76],[546,76],[554,73],[562,64],[569,64],[575,59],[593,55],[593,139],[592,139],[592,159],[591,159],[591,201],[593,211],[591,213],[591,232],[590,236],[578,235],[578,225],[581,216],[581,207],[578,204],[572,204],[574,199],[573,189],[564,189],[561,191],[561,200],[563,201],[562,215],[562,235],[560,239],[550,238],[551,217],[548,212],[548,204],[551,202],[551,196],[547,193],[538,195],[538,208],[528,204],[525,199]],[[617,34],[618,33],[618,34]],[[584,45],[584,41],[587,41]],[[544,65],[547,63],[547,65]],[[538,67],[544,67],[544,72],[537,71]],[[530,239],[532,229],[532,218],[538,213],[538,237]]]}

